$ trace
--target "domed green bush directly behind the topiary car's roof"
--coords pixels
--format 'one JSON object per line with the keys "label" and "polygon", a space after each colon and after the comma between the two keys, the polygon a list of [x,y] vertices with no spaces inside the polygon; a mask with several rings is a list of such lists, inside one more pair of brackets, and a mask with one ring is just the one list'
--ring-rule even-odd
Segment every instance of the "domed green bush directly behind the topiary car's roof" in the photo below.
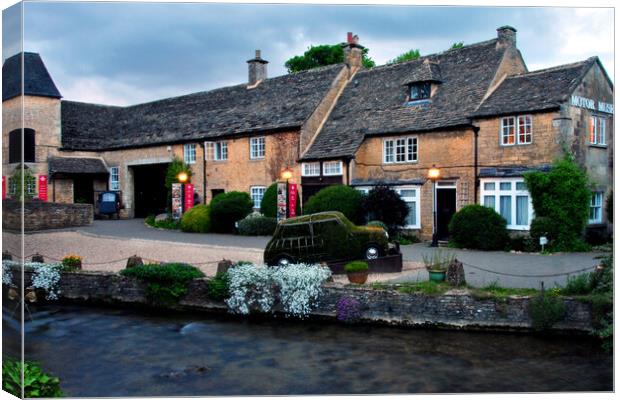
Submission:
{"label": "domed green bush directly behind the topiary car's roof", "polygon": [[304,204],[304,214],[340,211],[354,223],[361,223],[363,194],[350,186],[334,185],[321,189]]}

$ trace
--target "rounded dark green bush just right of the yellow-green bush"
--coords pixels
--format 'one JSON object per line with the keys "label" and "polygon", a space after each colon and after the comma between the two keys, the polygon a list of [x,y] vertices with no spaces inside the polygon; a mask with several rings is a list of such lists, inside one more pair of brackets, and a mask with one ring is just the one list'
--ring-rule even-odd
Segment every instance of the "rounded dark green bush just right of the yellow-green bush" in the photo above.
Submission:
{"label": "rounded dark green bush just right of the yellow-green bush", "polygon": [[211,200],[211,229],[214,232],[231,233],[235,222],[252,212],[254,203],[245,192],[227,192],[218,194]]}

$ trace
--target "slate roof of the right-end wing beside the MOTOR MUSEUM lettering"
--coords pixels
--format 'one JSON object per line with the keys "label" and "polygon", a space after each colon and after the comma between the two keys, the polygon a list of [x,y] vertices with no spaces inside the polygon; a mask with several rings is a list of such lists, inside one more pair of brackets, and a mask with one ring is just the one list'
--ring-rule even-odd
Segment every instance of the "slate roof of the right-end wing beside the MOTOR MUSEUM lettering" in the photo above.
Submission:
{"label": "slate roof of the right-end wing beside the MOTOR MUSEUM lettering", "polygon": [[475,117],[558,108],[575,90],[597,57],[507,77],[480,105]]}

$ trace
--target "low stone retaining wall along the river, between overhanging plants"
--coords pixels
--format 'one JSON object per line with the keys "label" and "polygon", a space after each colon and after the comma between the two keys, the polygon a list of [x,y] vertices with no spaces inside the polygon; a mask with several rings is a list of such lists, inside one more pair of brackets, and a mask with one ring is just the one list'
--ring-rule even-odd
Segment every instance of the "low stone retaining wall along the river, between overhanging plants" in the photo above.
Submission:
{"label": "low stone retaining wall along the river, between overhanging plants", "polygon": [[[31,273],[26,271],[24,275],[28,286]],[[227,308],[223,302],[208,299],[206,283],[205,278],[190,282],[188,294],[171,308],[225,312]],[[337,301],[348,296],[359,301],[361,322],[366,323],[491,331],[532,330],[528,312],[530,298],[527,296],[480,299],[467,290],[458,289],[441,296],[406,294],[335,283],[326,283],[323,289],[312,317],[335,319]],[[63,272],[59,290],[62,301],[148,305],[144,283],[114,273]],[[553,330],[558,333],[591,332],[591,305],[571,298],[563,298],[563,301],[565,316],[553,326]]]}

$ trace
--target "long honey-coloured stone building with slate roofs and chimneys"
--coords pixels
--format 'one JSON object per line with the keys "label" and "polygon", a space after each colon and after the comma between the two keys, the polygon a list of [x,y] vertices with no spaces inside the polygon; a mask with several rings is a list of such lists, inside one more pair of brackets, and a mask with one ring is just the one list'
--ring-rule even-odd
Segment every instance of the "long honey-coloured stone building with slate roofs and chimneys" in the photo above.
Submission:
{"label": "long honey-coloured stone building with slate roofs and chimneys", "polygon": [[165,167],[177,156],[191,165],[203,202],[241,190],[258,204],[285,167],[303,201],[333,184],[362,191],[387,184],[410,207],[406,228],[429,238],[434,209],[443,237],[452,215],[472,203],[493,207],[511,230],[528,230],[533,210],[523,174],[549,168],[568,150],[594,182],[591,227],[606,226],[613,84],[598,58],[528,71],[512,27],[492,40],[372,69],[361,67],[356,36],[343,47],[343,64],[275,78],[257,52],[247,83],[129,107],[61,100],[33,53],[23,54],[22,95],[22,57],[9,58],[3,177],[17,165],[23,112],[26,166],[46,177],[49,201],[92,202],[109,188],[122,192],[125,217],[159,212]]}

